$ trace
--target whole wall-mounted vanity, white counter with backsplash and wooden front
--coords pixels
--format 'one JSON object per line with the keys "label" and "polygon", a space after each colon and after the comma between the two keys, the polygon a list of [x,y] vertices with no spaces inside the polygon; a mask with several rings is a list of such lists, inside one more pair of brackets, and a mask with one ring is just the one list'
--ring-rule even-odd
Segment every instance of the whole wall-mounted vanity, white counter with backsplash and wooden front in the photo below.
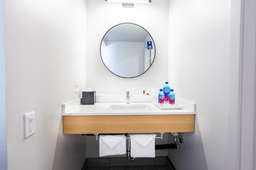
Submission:
{"label": "whole wall-mounted vanity, white counter with backsplash and wooden front", "polygon": [[[80,105],[81,99],[63,105],[64,134],[194,132],[195,104],[178,100],[184,109],[161,110],[151,102],[105,102],[97,95],[95,105]],[[122,95],[109,95],[119,98]],[[133,101],[143,95],[134,95]],[[145,96],[145,95],[144,95]],[[147,97],[147,96],[145,96]],[[151,96],[152,97],[152,96]],[[157,96],[155,96],[157,97]],[[102,98],[102,99],[101,99]],[[125,99],[125,95],[123,95]],[[139,99],[140,98],[140,99]],[[150,100],[150,99],[149,99]],[[112,99],[115,101],[115,99]]]}

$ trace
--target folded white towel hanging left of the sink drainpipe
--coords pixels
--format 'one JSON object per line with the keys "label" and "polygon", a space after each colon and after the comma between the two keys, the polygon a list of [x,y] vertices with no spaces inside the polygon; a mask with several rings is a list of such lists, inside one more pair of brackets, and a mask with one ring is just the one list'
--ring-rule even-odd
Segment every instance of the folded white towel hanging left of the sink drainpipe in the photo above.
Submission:
{"label": "folded white towel hanging left of the sink drainpipe", "polygon": [[124,135],[100,135],[99,156],[123,155],[126,153]]}

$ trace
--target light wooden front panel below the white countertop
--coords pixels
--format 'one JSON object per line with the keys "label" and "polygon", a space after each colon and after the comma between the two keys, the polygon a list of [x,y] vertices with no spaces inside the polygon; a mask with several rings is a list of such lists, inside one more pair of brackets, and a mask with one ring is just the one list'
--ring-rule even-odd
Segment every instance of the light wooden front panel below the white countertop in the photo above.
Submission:
{"label": "light wooden front panel below the white countertop", "polygon": [[63,116],[63,134],[195,132],[195,115]]}

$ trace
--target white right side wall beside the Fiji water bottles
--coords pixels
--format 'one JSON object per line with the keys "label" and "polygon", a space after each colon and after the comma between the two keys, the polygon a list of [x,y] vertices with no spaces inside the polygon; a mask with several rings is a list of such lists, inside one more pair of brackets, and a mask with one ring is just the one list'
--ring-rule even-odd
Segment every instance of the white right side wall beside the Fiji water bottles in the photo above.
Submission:
{"label": "white right side wall beside the Fiji water bottles", "polygon": [[227,170],[230,0],[169,1],[169,82],[197,104],[195,133],[169,150],[178,170]]}

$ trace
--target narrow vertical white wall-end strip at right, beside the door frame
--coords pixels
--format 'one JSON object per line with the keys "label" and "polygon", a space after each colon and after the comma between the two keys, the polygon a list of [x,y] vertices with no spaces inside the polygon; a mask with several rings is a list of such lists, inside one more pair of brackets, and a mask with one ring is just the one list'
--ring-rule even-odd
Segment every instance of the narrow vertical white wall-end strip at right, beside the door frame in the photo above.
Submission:
{"label": "narrow vertical white wall-end strip at right, beside the door frame", "polygon": [[228,155],[229,170],[237,169],[238,118],[239,118],[239,62],[240,62],[241,0],[230,1],[230,60],[229,60],[229,110]]}

